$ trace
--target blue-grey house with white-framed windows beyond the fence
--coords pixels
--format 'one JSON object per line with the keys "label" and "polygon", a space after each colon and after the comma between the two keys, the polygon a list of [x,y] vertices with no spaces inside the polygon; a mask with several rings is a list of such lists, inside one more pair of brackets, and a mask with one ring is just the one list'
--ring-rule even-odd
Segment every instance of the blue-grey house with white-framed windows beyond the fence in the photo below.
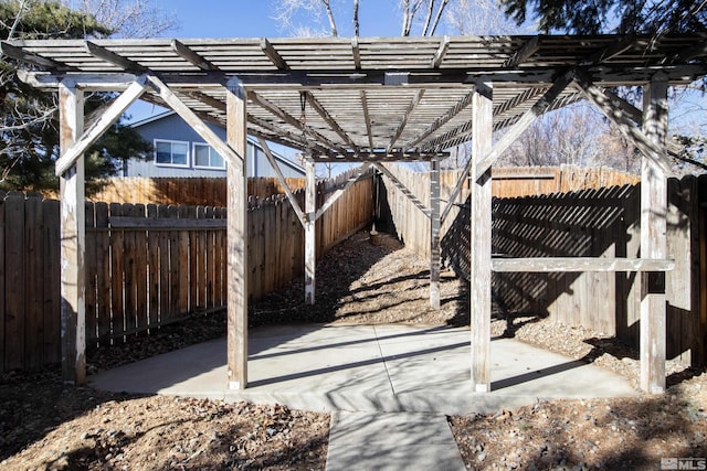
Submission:
{"label": "blue-grey house with white-framed windows beyond the fence", "polygon": [[[225,129],[208,125],[225,140]],[[137,121],[131,127],[154,147],[151,158],[130,159],[123,176],[226,176],[225,161],[175,111]],[[273,152],[285,178],[304,178],[297,163]],[[249,137],[247,176],[276,176],[263,148]]]}

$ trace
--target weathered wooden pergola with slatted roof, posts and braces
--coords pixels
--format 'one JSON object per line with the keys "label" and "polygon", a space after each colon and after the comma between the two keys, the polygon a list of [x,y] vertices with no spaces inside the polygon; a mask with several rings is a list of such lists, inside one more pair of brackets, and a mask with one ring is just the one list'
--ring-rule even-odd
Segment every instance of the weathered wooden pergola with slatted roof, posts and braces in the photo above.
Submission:
{"label": "weathered wooden pergola with slatted roof, posts and braces", "polygon": [[[267,153],[266,140],[299,149],[307,158],[305,207],[287,191],[305,228],[307,302],[315,296],[315,221],[336,197],[316,207],[316,162],[360,162],[361,171],[373,165],[428,215],[433,307],[440,304],[441,222],[468,176],[473,390],[490,389],[494,270],[641,271],[641,385],[664,390],[665,271],[673,267],[665,238],[667,89],[707,73],[707,36],[42,40],[4,41],[0,47],[23,67],[22,81],[59,93],[65,381],[85,381],[83,153],[141,98],[173,109],[229,162],[230,388],[247,385],[243,157],[250,133]],[[643,109],[610,90],[629,85],[643,87]],[[83,99],[92,92],[114,92],[116,98],[86,124]],[[581,99],[618,125],[643,156],[640,258],[493,259],[490,167],[537,116]],[[225,126],[226,141],[207,122]],[[493,142],[493,132],[500,129],[505,133]],[[439,161],[469,140],[473,159],[443,205]],[[429,204],[404,189],[387,161],[430,162]]]}

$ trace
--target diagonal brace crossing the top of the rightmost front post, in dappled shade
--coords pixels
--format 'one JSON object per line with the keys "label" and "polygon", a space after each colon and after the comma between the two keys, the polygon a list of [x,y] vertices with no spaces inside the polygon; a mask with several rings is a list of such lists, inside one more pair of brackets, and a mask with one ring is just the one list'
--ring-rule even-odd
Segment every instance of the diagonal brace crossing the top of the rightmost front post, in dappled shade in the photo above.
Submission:
{"label": "diagonal brace crossing the top of the rightmost front post, in dappled shade", "polygon": [[621,107],[612,104],[611,97],[606,96],[584,73],[578,73],[574,82],[584,93],[584,96],[613,122],[616,128],[629,139],[643,156],[648,158],[657,168],[666,174],[672,174],[671,162],[655,141],[648,139],[643,131],[633,125],[629,114]]}

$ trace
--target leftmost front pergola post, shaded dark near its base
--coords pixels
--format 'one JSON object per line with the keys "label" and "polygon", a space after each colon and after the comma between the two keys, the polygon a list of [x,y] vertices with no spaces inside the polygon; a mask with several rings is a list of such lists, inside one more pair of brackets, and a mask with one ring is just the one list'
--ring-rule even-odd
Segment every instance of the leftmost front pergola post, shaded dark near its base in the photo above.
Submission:
{"label": "leftmost front pergola post, shaded dark near its base", "polygon": [[[75,84],[59,86],[60,148],[65,153],[84,127],[84,94]],[[61,194],[61,335],[64,383],[86,382],[86,208],[84,204],[84,157],[60,175]]]}

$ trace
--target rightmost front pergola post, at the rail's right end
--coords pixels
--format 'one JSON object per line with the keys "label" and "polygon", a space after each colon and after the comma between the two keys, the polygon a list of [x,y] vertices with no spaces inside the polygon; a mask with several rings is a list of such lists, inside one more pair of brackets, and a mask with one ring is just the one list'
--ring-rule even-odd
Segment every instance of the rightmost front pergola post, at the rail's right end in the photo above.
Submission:
{"label": "rightmost front pergola post, at the rail's right end", "polygon": [[[643,94],[643,127],[665,158],[667,138],[667,79],[654,77]],[[667,180],[656,159],[641,163],[641,258],[667,256]],[[665,390],[665,274],[641,274],[641,389]]]}

